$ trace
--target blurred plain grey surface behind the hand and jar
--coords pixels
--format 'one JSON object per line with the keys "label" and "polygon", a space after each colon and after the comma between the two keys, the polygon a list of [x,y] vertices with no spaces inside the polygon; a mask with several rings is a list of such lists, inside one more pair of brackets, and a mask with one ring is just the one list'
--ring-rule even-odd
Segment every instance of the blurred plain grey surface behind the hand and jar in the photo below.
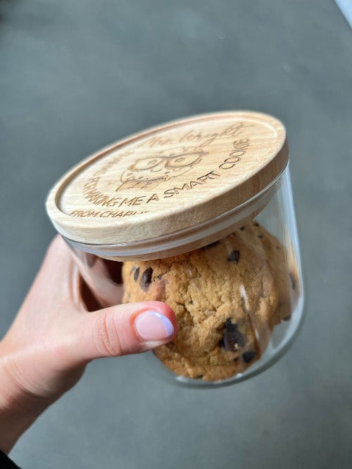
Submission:
{"label": "blurred plain grey surface behind the hand and jar", "polygon": [[11,456],[24,468],[351,467],[352,32],[334,2],[1,0],[0,12],[0,335],[54,236],[54,181],[119,137],[222,109],[287,125],[308,310],[287,355],[234,387],[172,387],[140,356],[96,361]]}

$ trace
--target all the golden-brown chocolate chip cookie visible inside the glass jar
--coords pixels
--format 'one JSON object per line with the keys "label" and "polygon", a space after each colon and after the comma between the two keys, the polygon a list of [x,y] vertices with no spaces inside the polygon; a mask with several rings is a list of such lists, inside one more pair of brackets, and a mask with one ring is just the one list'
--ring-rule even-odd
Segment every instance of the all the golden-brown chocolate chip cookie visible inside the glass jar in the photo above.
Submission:
{"label": "all the golden-brown chocolate chip cookie visible inside the glass jar", "polygon": [[279,241],[251,221],[192,252],[125,262],[123,300],[169,304],[179,333],[156,356],[179,375],[222,380],[258,360],[275,324],[289,319],[295,285],[285,266]]}

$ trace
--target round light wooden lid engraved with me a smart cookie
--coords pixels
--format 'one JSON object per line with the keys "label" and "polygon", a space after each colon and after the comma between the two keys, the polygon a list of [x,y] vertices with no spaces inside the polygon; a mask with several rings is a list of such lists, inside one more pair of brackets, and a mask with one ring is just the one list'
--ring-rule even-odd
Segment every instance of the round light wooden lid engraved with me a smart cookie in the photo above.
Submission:
{"label": "round light wooden lid engraved with me a smart cookie", "polygon": [[287,166],[284,126],[229,111],[152,127],[80,162],[51,189],[46,210],[65,238],[139,243],[177,233],[253,198]]}

